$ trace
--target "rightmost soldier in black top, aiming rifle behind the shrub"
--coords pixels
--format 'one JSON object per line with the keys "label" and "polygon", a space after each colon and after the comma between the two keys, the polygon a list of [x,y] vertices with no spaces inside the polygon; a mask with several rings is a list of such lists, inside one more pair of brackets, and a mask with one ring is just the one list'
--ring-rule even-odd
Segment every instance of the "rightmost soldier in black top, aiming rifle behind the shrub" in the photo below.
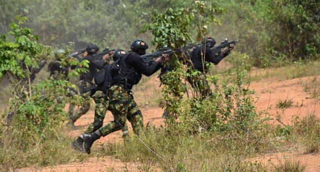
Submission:
{"label": "rightmost soldier in black top, aiming rifle behind the shrub", "polygon": [[210,48],[216,44],[215,39],[212,37],[205,37],[203,45],[193,48],[190,53],[191,57],[191,71],[199,71],[197,75],[190,75],[188,82],[194,89],[197,89],[202,98],[212,94],[212,90],[208,85],[205,73],[209,71],[210,63],[218,64],[224,57],[229,55],[230,51],[234,48],[231,44],[230,47],[225,47],[218,54],[214,54]]}

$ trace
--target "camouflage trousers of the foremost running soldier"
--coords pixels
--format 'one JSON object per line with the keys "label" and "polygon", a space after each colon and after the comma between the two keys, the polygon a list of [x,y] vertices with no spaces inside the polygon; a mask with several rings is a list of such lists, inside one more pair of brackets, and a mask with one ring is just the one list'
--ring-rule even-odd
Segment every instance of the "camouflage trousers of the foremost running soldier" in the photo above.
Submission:
{"label": "camouflage trousers of the foremost running soldier", "polygon": [[124,137],[128,135],[127,119],[131,123],[133,132],[138,135],[143,130],[143,116],[133,100],[132,92],[121,86],[112,86],[108,91],[108,99],[109,110],[114,120],[99,129],[102,136],[118,130],[123,131]]}

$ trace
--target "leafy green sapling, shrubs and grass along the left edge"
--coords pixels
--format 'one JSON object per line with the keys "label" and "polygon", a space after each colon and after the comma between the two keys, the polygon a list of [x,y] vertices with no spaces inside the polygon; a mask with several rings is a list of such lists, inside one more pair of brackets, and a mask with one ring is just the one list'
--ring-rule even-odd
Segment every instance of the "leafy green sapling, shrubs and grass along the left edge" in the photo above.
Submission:
{"label": "leafy green sapling, shrubs and grass along the left edge", "polygon": [[[31,29],[21,27],[26,18],[18,19],[18,24],[11,24],[11,39],[2,35],[0,40],[0,76],[5,76],[11,84],[9,106],[0,125],[0,169],[3,171],[74,160],[76,156],[72,152],[62,153],[69,150],[66,148],[69,143],[62,141],[64,135],[57,131],[67,116],[63,111],[66,102],[77,105],[83,101],[78,95],[67,96],[71,86],[67,80],[32,83],[32,72],[39,67],[38,62],[53,57],[53,53],[51,47],[38,42]],[[66,53],[59,55],[62,65],[83,65],[83,68],[76,67],[74,75],[86,71],[87,61],[76,62],[67,56],[70,51],[66,47]],[[63,101],[55,101],[57,97]]]}

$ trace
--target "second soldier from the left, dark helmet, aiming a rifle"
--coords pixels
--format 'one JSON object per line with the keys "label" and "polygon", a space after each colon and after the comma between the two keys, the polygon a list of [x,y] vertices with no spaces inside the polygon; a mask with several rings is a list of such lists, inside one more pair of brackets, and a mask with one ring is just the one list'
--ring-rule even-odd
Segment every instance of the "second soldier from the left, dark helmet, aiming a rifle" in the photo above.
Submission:
{"label": "second soldier from the left, dark helmet, aiming a rifle", "polygon": [[110,58],[110,56],[107,55],[103,56],[102,58],[96,57],[95,54],[98,51],[99,47],[95,44],[89,44],[86,48],[87,56],[84,57],[83,60],[88,60],[90,62],[89,71],[81,74],[79,82],[80,94],[86,99],[86,101],[85,104],[81,106],[79,112],[70,117],[68,125],[74,126],[74,122],[82,115],[86,114],[90,109],[90,91],[95,86],[93,79],[97,73],[97,69],[102,69],[108,63],[108,58]]}

